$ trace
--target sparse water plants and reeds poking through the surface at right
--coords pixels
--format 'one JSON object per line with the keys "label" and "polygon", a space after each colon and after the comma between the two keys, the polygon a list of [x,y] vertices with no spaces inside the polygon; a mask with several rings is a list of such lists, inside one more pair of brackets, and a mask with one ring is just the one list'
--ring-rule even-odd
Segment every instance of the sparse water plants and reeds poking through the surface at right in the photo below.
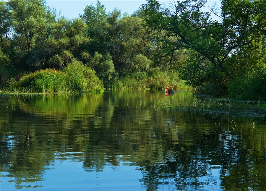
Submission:
{"label": "sparse water plants and reeds poking through the surface at right", "polygon": [[[119,108],[127,107],[127,103],[114,104]],[[191,101],[141,101],[131,106],[133,110],[140,108],[150,108],[154,110],[170,109],[177,112],[189,112],[191,115],[211,115],[215,118],[233,118],[233,117],[266,117],[265,102],[250,101],[229,101],[214,99],[196,99]]]}

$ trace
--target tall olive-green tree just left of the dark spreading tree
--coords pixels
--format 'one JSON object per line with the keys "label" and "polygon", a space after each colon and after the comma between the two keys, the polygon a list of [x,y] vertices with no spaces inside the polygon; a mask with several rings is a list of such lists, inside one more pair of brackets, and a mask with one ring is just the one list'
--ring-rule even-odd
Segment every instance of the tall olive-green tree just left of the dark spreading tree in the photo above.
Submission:
{"label": "tall olive-green tree just left of the dark spreading tree", "polygon": [[151,65],[150,61],[147,61],[153,50],[151,35],[147,33],[145,27],[142,27],[142,21],[140,17],[128,14],[124,14],[119,20],[121,28],[119,40],[122,46],[119,67],[123,68],[122,72],[145,71]]}

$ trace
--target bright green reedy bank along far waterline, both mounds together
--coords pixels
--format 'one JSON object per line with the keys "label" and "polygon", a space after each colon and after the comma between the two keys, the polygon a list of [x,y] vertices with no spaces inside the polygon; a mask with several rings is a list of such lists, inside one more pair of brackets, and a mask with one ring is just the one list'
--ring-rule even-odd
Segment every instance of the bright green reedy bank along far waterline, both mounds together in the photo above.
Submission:
{"label": "bright green reedy bank along far waterline, both mounds together", "polygon": [[162,72],[159,69],[115,77],[104,87],[94,70],[74,61],[63,70],[43,69],[23,75],[19,80],[10,78],[2,90],[8,93],[66,93],[101,91],[104,88],[161,90],[168,85],[173,90],[191,90],[180,79],[178,72]]}

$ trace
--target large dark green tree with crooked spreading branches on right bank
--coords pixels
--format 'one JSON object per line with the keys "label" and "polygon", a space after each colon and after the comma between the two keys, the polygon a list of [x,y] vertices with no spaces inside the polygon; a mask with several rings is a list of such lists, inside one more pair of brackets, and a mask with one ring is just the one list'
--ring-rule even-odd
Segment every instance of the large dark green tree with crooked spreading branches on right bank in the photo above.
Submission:
{"label": "large dark green tree with crooked spreading branches on right bank", "polygon": [[[209,7],[209,12],[203,11],[205,5],[206,0],[186,0],[163,7],[158,1],[148,0],[142,10],[147,27],[163,43],[161,55],[187,50],[184,80],[193,87],[209,83],[222,94],[235,73],[243,69],[232,57],[263,39],[266,1],[222,0],[220,6]],[[211,13],[219,19],[212,20]]]}

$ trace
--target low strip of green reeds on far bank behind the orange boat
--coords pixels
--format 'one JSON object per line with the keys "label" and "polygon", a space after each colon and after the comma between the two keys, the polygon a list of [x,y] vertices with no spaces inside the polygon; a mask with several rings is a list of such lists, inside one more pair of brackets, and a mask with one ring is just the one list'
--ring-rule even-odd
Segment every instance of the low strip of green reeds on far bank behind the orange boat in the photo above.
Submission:
{"label": "low strip of green reeds on far bank behind the orange boat", "polygon": [[113,89],[164,89],[170,86],[174,90],[191,88],[181,80],[178,72],[162,72],[151,69],[149,72],[134,72],[124,77],[116,77],[111,88]]}

